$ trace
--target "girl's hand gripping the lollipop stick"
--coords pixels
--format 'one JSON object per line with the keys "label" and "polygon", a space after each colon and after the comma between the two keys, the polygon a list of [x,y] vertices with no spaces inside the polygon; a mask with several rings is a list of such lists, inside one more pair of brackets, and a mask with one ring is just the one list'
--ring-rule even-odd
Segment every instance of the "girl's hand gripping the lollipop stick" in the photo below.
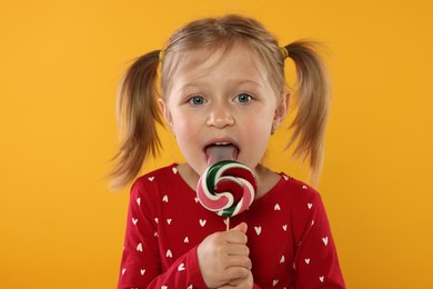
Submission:
{"label": "girl's hand gripping the lollipop stick", "polygon": [[199,245],[199,267],[209,288],[219,288],[238,279],[249,280],[251,260],[245,233],[246,223],[242,222],[230,231],[208,236]]}

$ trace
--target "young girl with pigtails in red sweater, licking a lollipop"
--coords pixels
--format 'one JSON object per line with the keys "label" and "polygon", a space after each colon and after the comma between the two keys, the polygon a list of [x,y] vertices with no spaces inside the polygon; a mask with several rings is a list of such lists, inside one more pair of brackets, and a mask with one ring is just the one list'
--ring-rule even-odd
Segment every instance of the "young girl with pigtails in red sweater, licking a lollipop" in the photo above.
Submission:
{"label": "young girl with pigtails in red sweater, licking a lollipop", "polygon": [[[131,66],[119,99],[114,186],[158,155],[162,119],[187,162],[133,183],[119,288],[344,288],[320,195],[261,165],[288,112],[291,58],[299,109],[289,144],[319,178],[329,82],[313,48],[308,41],[280,48],[258,21],[225,16],[187,24]],[[223,159],[246,165],[258,179],[254,202],[231,218],[229,231],[195,195],[203,171]]]}

